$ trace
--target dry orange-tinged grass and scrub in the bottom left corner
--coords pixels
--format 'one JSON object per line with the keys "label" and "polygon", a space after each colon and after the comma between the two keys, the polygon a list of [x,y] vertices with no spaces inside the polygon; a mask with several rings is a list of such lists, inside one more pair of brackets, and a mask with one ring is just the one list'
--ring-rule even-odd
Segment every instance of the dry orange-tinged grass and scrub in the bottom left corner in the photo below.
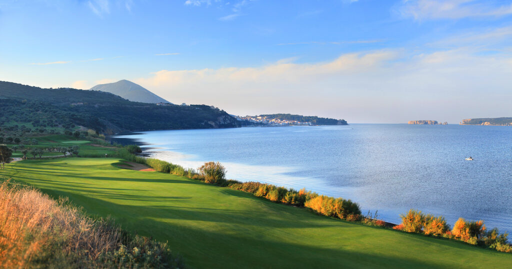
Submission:
{"label": "dry orange-tinged grass and scrub in the bottom left corner", "polygon": [[182,268],[166,243],[91,218],[67,200],[0,183],[0,267]]}

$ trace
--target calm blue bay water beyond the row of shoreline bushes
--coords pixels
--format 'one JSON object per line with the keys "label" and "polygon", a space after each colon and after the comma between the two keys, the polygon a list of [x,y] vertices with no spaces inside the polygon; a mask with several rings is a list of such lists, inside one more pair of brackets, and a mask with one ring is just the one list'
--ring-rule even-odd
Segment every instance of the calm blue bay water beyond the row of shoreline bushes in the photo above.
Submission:
{"label": "calm blue bay water beyond the row of shoreline bushes", "polygon": [[[120,136],[155,158],[228,178],[356,201],[364,213],[400,222],[410,208],[483,219],[512,233],[512,127],[353,124],[148,131]],[[473,156],[474,161],[465,161]]]}

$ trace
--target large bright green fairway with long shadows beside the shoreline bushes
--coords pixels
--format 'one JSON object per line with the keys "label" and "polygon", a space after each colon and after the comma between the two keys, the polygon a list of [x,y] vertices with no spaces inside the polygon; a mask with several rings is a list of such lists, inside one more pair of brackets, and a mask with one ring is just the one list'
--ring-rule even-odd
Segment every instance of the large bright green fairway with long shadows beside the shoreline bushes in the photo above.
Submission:
{"label": "large bright green fairway with long shadows beside the shoreline bushes", "polygon": [[[22,161],[1,173],[124,229],[161,241],[199,268],[488,267],[512,255],[460,241],[368,227],[170,174],[119,169],[119,159]],[[0,176],[3,176],[0,174]]]}

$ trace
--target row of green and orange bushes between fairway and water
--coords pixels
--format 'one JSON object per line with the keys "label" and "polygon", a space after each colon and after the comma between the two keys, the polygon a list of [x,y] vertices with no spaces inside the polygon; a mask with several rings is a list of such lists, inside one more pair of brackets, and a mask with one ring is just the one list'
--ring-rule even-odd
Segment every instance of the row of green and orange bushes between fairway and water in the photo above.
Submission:
{"label": "row of green and orange bushes between fairway and water", "polygon": [[487,230],[483,220],[466,221],[463,218],[459,218],[452,229],[442,216],[424,214],[421,211],[411,209],[408,213],[401,215],[402,223],[400,225],[393,225],[378,219],[377,212],[375,212],[375,215],[370,213],[362,215],[359,205],[350,199],[346,200],[319,195],[305,189],[297,191],[259,182],[226,180],[226,169],[218,162],[205,163],[197,170],[185,169],[180,165],[162,160],[142,158],[135,155],[137,152],[140,152],[140,148],[131,145],[119,148],[117,154],[119,158],[145,164],[152,167],[155,171],[186,176],[193,180],[215,184],[220,187],[249,192],[254,196],[268,199],[274,203],[306,207],[319,215],[359,222],[370,226],[392,228],[403,232],[461,240],[483,248],[512,253],[512,244],[507,239],[508,234],[500,234],[497,228]]}

